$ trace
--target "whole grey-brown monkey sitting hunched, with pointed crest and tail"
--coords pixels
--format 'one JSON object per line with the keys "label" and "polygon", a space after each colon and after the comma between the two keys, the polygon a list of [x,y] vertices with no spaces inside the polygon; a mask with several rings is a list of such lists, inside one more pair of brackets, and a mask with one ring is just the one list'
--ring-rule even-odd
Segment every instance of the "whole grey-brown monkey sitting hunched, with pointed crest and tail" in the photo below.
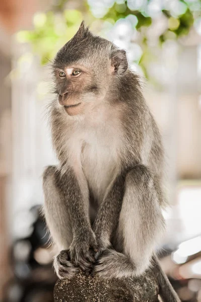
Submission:
{"label": "whole grey-brown monkey sitting hunched, with pointed crest and tail", "polygon": [[[58,165],[43,174],[44,212],[58,278],[143,274],[163,236],[164,149],[125,50],[82,22],[52,61],[49,106]],[[161,276],[161,273],[160,273]],[[167,285],[164,298],[179,301]]]}

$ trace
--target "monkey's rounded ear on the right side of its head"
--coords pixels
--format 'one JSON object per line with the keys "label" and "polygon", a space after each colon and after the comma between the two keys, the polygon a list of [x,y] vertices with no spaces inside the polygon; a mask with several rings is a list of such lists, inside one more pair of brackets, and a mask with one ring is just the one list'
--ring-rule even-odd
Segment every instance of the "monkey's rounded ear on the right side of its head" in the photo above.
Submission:
{"label": "monkey's rounded ear on the right side of its head", "polygon": [[128,69],[126,52],[123,49],[116,49],[111,52],[111,65],[114,73],[123,74]]}

